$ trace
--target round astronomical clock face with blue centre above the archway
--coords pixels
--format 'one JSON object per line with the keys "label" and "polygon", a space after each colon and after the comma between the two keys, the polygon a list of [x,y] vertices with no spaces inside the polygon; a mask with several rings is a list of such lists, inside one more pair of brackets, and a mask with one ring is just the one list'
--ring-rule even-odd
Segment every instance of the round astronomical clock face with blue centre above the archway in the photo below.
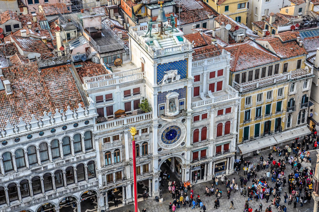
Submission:
{"label": "round astronomical clock face with blue centre above the archway", "polygon": [[186,136],[186,128],[181,123],[170,123],[163,126],[158,134],[159,146],[162,148],[174,148],[178,146]]}

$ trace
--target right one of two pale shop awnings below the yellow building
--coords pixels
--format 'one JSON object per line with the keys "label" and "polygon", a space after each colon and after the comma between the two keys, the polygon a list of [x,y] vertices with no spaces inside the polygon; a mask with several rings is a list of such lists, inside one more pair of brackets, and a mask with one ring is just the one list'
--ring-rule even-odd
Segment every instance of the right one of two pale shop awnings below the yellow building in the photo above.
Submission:
{"label": "right one of two pale shop awnings below the yellow building", "polygon": [[282,132],[280,134],[274,135],[274,138],[276,139],[277,143],[282,143],[285,141],[293,140],[295,138],[305,136],[310,134],[311,131],[309,130],[308,126],[302,126],[298,128],[294,128],[292,130],[288,130],[285,132]]}

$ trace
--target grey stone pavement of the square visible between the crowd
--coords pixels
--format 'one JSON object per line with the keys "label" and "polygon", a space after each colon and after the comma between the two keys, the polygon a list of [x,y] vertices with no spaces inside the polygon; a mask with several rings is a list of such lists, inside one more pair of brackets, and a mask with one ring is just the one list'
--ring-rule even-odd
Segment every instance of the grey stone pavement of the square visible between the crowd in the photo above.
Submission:
{"label": "grey stone pavement of the square visible between the crowd", "polygon": [[[268,149],[268,150],[265,150],[263,152],[261,152],[261,155],[263,155],[263,157],[266,159],[268,159],[268,154],[271,150]],[[312,158],[312,164],[311,164],[311,168],[313,170],[314,167],[315,167],[315,161],[316,161],[316,151],[315,150],[312,150],[310,151],[311,153],[311,158]],[[247,157],[247,158],[244,158],[244,160],[250,160],[250,162],[252,163],[258,163],[259,162],[259,157],[261,155],[256,155],[256,156],[250,156],[250,157]],[[274,158],[278,161],[278,155],[276,154],[273,154]],[[281,157],[282,158],[282,157]],[[243,177],[247,177],[247,176],[244,176],[243,175],[243,170],[242,170],[243,166],[241,166],[241,170],[239,171],[239,175],[237,176],[236,173],[232,174],[232,175],[229,175],[227,176],[228,178],[232,179],[232,178],[236,178],[236,180],[238,181],[238,185],[240,187],[240,181],[239,181],[239,178],[241,176]],[[269,166],[269,169],[270,170],[270,166]],[[260,170],[258,173],[257,173],[257,177],[256,179],[259,179],[261,177],[261,175],[263,175],[264,173],[267,172],[267,169],[265,169],[264,171]],[[285,176],[287,176],[289,173],[293,172],[293,170],[291,170],[291,167],[290,165],[286,166],[286,172],[285,172]],[[252,183],[251,183],[251,180],[253,178],[250,178],[250,181],[247,183],[247,188],[249,186],[252,186]],[[220,181],[219,181],[220,182]],[[216,188],[219,188],[222,190],[223,194],[222,194],[222,197],[219,199],[219,202],[220,202],[220,207],[218,209],[214,208],[214,201],[216,200],[216,196],[213,195],[211,197],[209,196],[206,196],[204,193],[205,193],[205,186],[208,186],[209,188],[211,187],[211,183],[212,181],[208,181],[208,182],[202,182],[202,183],[197,183],[197,184],[193,184],[193,189],[194,189],[194,195],[196,196],[197,194],[200,195],[200,198],[202,199],[203,203],[205,204],[206,206],[206,211],[207,212],[226,212],[226,211],[234,211],[234,212],[242,212],[244,210],[244,205],[245,205],[245,201],[248,200],[248,197],[246,195],[246,197],[243,197],[241,196],[240,194],[240,190],[238,190],[238,192],[234,193],[234,190],[232,191],[231,195],[230,195],[230,199],[227,198],[227,194],[226,194],[226,185],[218,185],[218,186],[215,186],[215,189]],[[268,181],[269,185],[271,186],[274,186],[275,183],[274,182],[271,182],[271,180]],[[138,208],[140,211],[142,211],[142,209],[146,208],[146,211],[147,212],[169,212],[169,209],[168,209],[168,205],[170,202],[173,202],[173,199],[172,199],[172,195],[170,193],[168,193],[168,188],[167,188],[167,184],[164,187],[160,187],[160,189],[163,190],[163,202],[160,203],[160,202],[155,202],[154,198],[149,198],[148,200],[145,200],[145,201],[139,201],[138,202]],[[291,205],[288,205],[288,200],[287,200],[287,203],[284,203],[284,194],[285,192],[287,192],[288,196],[289,196],[289,193],[288,193],[288,184],[286,184],[285,187],[283,187],[282,189],[282,192],[281,192],[281,201],[280,201],[280,205],[285,205],[287,207],[287,212],[295,212],[295,211],[301,211],[301,212],[305,212],[305,211],[313,211],[313,207],[314,207],[314,201],[311,200],[310,203],[306,203],[303,205],[303,207],[300,207],[300,202],[297,204],[297,208],[293,208],[293,204]],[[263,210],[262,211],[265,211],[265,209],[270,205],[270,202],[271,200],[273,199],[273,195],[271,194],[270,196],[271,198],[269,199],[268,203],[266,203],[266,199],[259,199],[258,201],[255,201],[253,199],[253,201],[249,201],[249,207],[252,207],[253,208],[253,211],[255,211],[255,209],[258,209],[259,207],[259,204],[262,203],[263,204]],[[233,199],[234,200],[234,208],[235,209],[229,209],[229,206],[230,206],[230,200]],[[309,210],[307,210],[309,209]],[[128,204],[128,205],[125,205],[123,207],[120,207],[120,208],[115,208],[115,209],[111,209],[111,211],[114,211],[114,212],[128,212],[129,210],[131,211],[134,211],[134,205],[133,204]],[[180,212],[190,212],[190,211],[203,211],[203,210],[200,210],[200,208],[196,208],[196,209],[193,209],[191,210],[190,207],[188,207],[188,204],[186,205],[186,208],[184,207],[181,207],[181,208],[176,208],[176,211],[180,211]],[[275,211],[277,212],[278,209],[275,208],[275,206],[272,206],[272,211]]]}

